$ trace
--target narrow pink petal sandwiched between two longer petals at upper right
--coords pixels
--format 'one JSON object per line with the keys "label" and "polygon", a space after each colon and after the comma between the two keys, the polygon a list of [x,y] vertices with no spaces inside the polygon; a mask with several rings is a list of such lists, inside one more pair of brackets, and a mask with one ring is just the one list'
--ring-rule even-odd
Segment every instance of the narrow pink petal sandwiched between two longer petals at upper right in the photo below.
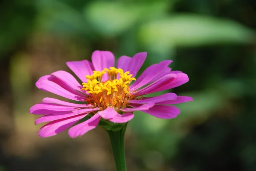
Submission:
{"label": "narrow pink petal sandwiched between two longer petals at upper right", "polygon": [[136,92],[131,93],[131,94],[135,95],[135,96],[143,96],[148,93],[157,92],[157,91],[159,91],[158,90],[159,87],[169,84],[169,82],[173,81],[175,78],[176,78],[176,74],[167,74],[167,75],[163,76],[162,78],[160,78],[159,80],[154,81],[152,84],[148,85],[147,87],[137,90]]}

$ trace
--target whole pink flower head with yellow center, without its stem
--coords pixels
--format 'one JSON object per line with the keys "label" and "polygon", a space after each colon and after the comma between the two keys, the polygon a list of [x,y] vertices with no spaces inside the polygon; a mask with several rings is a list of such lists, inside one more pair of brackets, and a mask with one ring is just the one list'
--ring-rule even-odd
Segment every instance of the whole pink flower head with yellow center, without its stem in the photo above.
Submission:
{"label": "whole pink flower head with yellow center, without its stem", "polygon": [[[136,80],[134,77],[143,65],[147,53],[140,52],[134,57],[121,56],[114,67],[115,58],[109,51],[95,51],[92,63],[88,60],[67,62],[67,66],[83,82],[66,71],[56,71],[41,77],[36,86],[59,96],[82,104],[70,103],[53,98],[44,98],[42,103],[30,108],[31,114],[44,115],[35,124],[44,125],[38,135],[53,136],[74,125],[85,116],[90,119],[69,129],[71,137],[82,136],[96,128],[100,119],[107,122],[126,123],[140,110],[162,119],[175,118],[180,110],[169,104],[192,101],[191,97],[166,93],[145,98],[146,94],[178,87],[189,81],[186,74],[171,71],[171,60],[148,67]],[[134,81],[136,80],[136,81]],[[131,83],[134,81],[134,83]]]}

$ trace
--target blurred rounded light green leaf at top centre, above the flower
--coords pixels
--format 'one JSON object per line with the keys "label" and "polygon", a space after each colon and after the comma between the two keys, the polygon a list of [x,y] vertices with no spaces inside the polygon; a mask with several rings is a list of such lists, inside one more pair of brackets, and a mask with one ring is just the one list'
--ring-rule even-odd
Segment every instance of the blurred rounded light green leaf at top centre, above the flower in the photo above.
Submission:
{"label": "blurred rounded light green leaf at top centre, above the flower", "polygon": [[102,35],[115,36],[135,25],[138,20],[156,17],[166,12],[166,2],[123,3],[94,1],[84,9],[84,15]]}

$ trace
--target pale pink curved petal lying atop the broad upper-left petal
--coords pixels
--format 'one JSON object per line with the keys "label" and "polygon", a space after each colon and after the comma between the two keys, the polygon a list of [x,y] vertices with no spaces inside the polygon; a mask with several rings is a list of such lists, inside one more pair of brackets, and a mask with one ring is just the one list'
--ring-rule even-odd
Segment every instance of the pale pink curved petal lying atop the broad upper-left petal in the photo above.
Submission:
{"label": "pale pink curved petal lying atop the broad upper-left petal", "polygon": [[53,72],[51,75],[54,75],[55,77],[59,78],[61,81],[69,85],[71,88],[77,91],[81,91],[81,84],[76,80],[76,78],[73,77],[70,73],[66,71],[56,71]]}

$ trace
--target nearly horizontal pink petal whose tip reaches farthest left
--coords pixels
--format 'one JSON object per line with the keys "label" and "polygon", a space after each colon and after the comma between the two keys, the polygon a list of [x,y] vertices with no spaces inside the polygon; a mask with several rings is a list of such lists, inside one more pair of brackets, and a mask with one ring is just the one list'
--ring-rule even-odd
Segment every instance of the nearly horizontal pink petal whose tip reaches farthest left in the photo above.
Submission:
{"label": "nearly horizontal pink petal whose tip reaches farthest left", "polygon": [[43,115],[47,110],[54,110],[54,111],[71,111],[75,110],[77,107],[70,107],[70,106],[60,106],[58,104],[44,104],[44,103],[38,103],[32,106],[29,109],[29,112],[31,114],[39,114]]}

